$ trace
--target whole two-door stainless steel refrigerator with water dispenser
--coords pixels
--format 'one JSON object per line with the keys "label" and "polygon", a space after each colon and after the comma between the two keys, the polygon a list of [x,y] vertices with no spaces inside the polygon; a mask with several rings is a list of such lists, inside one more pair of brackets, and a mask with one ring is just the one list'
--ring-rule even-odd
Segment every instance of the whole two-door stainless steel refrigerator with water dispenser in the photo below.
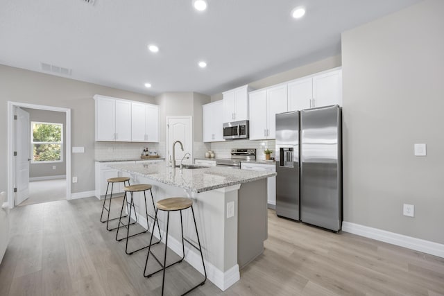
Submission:
{"label": "whole two-door stainless steel refrigerator with water dispenser", "polygon": [[[290,121],[293,123],[289,124]],[[299,149],[296,134],[300,135]],[[285,162],[286,148],[291,147],[292,170]],[[276,159],[276,214],[336,232],[341,230],[341,107],[276,114],[276,152],[280,156]]]}

